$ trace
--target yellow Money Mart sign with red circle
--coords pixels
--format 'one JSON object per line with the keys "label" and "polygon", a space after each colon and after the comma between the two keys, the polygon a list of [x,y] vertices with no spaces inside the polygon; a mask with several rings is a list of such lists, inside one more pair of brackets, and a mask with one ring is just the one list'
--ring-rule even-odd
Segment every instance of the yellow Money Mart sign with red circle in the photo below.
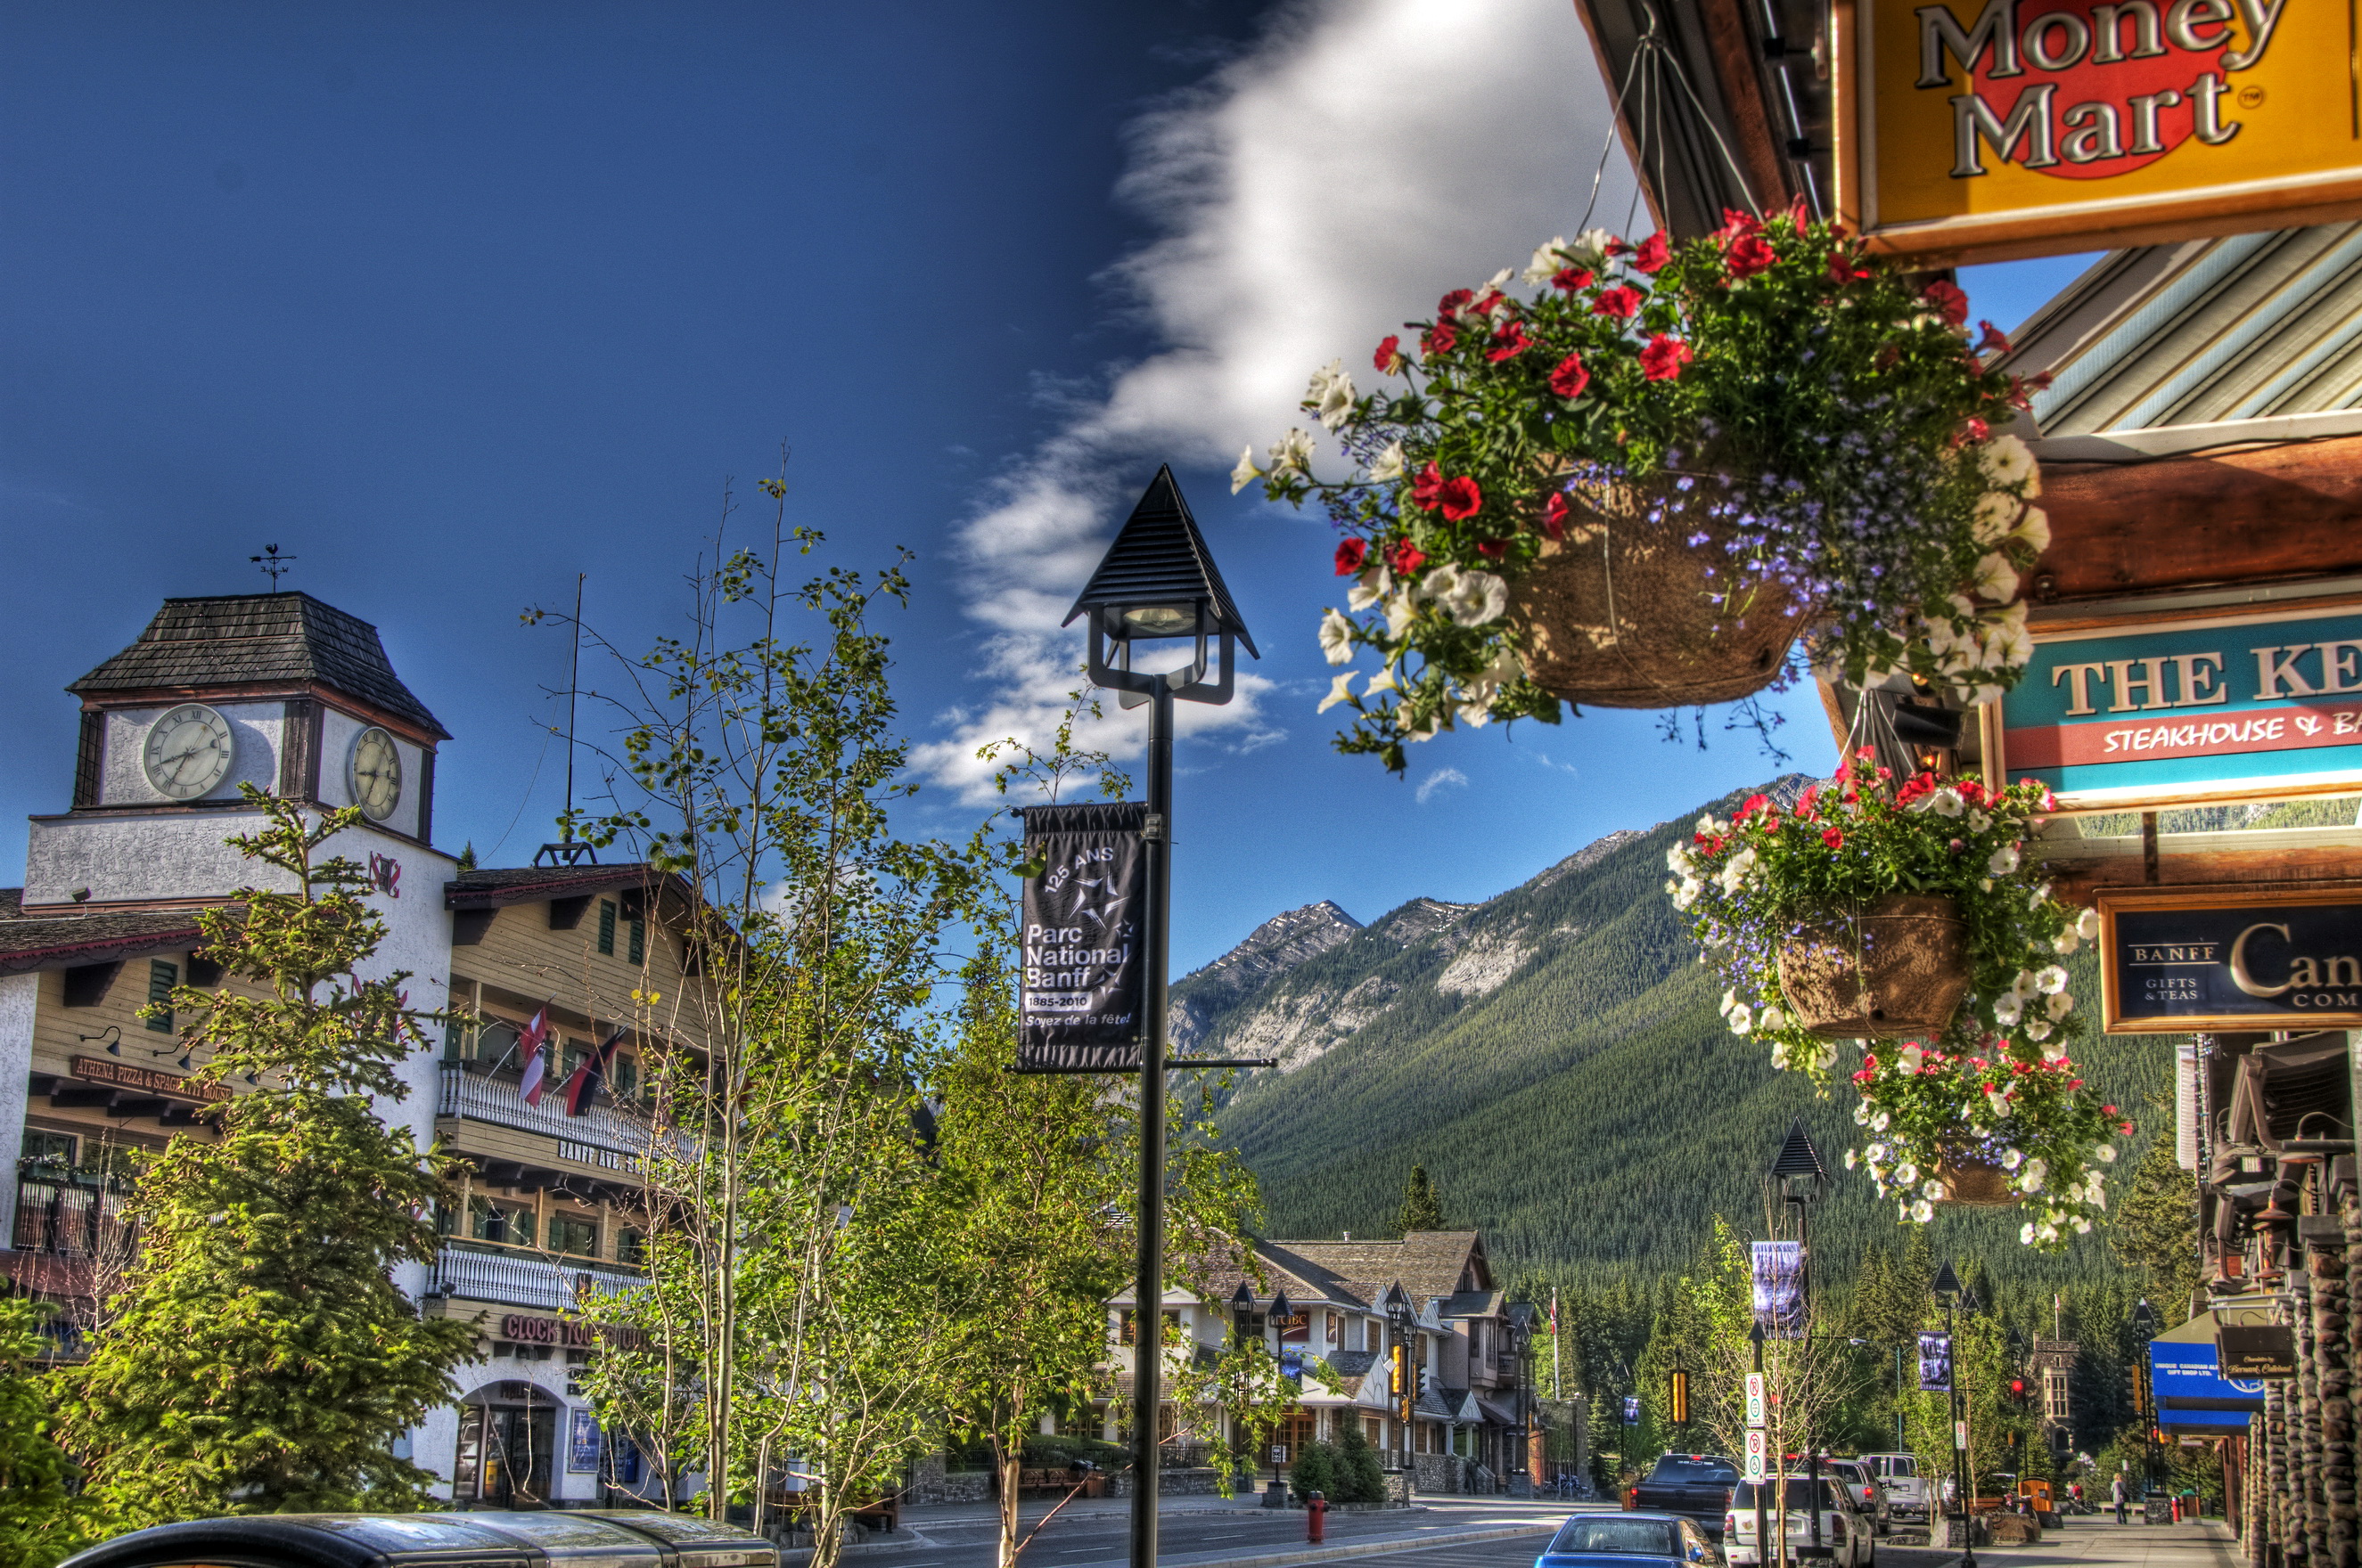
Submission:
{"label": "yellow Money Mart sign with red circle", "polygon": [[1840,5],[1838,205],[1930,260],[2362,215],[2357,5]]}

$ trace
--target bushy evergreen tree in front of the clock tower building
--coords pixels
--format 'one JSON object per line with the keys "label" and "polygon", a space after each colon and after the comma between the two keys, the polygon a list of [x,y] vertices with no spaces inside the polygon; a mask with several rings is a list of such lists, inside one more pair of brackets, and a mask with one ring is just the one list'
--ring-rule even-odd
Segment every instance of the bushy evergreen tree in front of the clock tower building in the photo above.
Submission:
{"label": "bushy evergreen tree in front of the clock tower building", "polygon": [[61,1372],[64,1431],[90,1495],[123,1525],[288,1509],[404,1509],[432,1476],[394,1440],[451,1393],[475,1327],[420,1318],[397,1263],[435,1259],[442,1162],[371,1098],[428,1046],[404,973],[361,980],[385,937],[368,874],[321,848],[359,810],[305,822],[246,789],[262,827],[231,838],[281,888],[198,916],[236,989],[172,992],[210,1051],[194,1082],[253,1074],[182,1133],[135,1197],[144,1249],[87,1365]]}

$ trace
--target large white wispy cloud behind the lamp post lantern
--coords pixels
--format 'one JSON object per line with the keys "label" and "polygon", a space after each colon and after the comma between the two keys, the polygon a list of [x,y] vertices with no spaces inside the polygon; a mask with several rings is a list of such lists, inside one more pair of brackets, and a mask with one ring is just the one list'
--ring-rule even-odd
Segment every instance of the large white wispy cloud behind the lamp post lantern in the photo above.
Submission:
{"label": "large white wispy cloud behind the lamp post lantern", "polygon": [[[985,793],[976,749],[1056,723],[1082,656],[1058,619],[1155,460],[1228,470],[1242,444],[1304,423],[1316,366],[1368,366],[1446,288],[1573,234],[1604,135],[1606,92],[1564,0],[1304,0],[1141,116],[1120,194],[1164,234],[1108,281],[1162,347],[1096,394],[1056,383],[1063,427],[959,527],[968,612],[992,628],[983,675],[1035,697],[964,716],[916,760]],[[1599,210],[1620,222],[1627,201],[1618,158]],[[1183,706],[1181,730],[1271,744],[1271,692],[1240,673],[1228,708]],[[1110,704],[1105,723],[1089,744],[1138,749],[1138,716]]]}

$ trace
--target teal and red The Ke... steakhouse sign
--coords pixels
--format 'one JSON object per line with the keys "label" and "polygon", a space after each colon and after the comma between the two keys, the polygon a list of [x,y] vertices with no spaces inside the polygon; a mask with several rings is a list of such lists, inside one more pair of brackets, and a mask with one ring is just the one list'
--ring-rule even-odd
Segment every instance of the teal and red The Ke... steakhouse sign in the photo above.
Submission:
{"label": "teal and red The Ke... steakhouse sign", "polygon": [[2036,626],[1986,741],[2069,812],[2353,793],[2362,605]]}

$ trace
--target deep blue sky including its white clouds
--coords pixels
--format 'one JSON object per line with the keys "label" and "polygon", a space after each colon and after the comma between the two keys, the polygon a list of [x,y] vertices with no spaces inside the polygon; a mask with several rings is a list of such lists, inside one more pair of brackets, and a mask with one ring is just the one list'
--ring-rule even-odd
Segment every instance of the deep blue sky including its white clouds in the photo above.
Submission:
{"label": "deep blue sky including its white clouds", "polygon": [[[583,571],[647,645],[782,442],[836,560],[919,553],[912,827],[947,834],[1174,463],[1264,647],[1181,751],[1176,971],[1760,777],[1717,720],[1698,751],[1632,713],[1446,737],[1405,782],[1330,753],[1325,524],[1224,477],[1313,366],[1575,231],[1601,132],[1566,0],[5,7],[0,876],[68,798],[59,687],[165,595],[262,588],[265,543],[456,734],[437,838],[529,857],[567,649],[517,612]],[[2076,267],[1968,286],[2012,324]],[[1819,704],[1786,711],[1826,770]]]}

